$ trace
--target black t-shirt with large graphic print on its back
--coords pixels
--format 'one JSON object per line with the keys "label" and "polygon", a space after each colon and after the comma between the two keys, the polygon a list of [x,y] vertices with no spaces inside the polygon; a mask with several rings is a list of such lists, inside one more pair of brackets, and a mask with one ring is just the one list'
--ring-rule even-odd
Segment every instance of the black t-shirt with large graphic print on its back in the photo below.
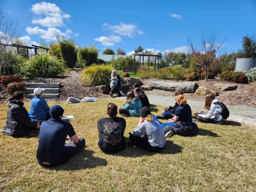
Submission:
{"label": "black t-shirt with large graphic print on its back", "polygon": [[126,121],[122,117],[106,117],[97,122],[99,148],[105,153],[116,153],[125,148],[124,130]]}

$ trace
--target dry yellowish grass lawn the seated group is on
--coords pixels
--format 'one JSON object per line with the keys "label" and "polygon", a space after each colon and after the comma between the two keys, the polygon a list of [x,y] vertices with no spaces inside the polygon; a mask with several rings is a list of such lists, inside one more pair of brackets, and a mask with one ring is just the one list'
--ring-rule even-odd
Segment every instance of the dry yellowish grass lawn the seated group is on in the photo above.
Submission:
{"label": "dry yellowish grass lawn the seated group is on", "polygon": [[[197,135],[173,135],[166,148],[150,153],[126,144],[115,154],[98,147],[97,121],[106,117],[109,102],[121,107],[120,100],[99,100],[59,104],[86,147],[68,163],[43,168],[36,162],[38,137],[7,136],[0,133],[0,191],[255,191],[255,126],[225,121],[223,125],[198,123]],[[30,108],[30,102],[25,102]],[[163,106],[151,105],[155,115]],[[3,128],[7,104],[0,104]],[[139,117],[125,117],[125,140],[137,126]],[[166,122],[166,120],[164,121]]]}

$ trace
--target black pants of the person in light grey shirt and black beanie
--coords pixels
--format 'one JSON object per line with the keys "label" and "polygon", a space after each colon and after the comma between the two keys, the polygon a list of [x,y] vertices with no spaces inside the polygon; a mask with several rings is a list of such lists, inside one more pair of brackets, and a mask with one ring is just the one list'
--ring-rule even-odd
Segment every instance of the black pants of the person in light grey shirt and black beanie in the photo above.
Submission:
{"label": "black pants of the person in light grey shirt and black beanie", "polygon": [[134,145],[140,148],[143,148],[144,150],[147,150],[149,152],[159,152],[165,148],[165,145],[164,147],[153,147],[152,145],[150,145],[146,135],[144,135],[143,137],[140,137],[140,136],[133,136],[132,133],[129,133],[129,134],[130,134],[129,139]]}

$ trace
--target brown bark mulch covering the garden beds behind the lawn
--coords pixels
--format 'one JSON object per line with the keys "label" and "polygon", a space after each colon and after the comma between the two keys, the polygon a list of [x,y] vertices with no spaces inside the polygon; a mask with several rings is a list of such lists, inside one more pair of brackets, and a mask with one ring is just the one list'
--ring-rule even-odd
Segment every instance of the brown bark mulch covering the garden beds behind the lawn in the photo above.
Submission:
{"label": "brown bark mulch covering the garden beds behind the lawn", "polygon": [[[149,82],[152,80],[155,81],[156,78],[140,78],[141,85],[149,85]],[[82,83],[80,81],[80,73],[77,73],[76,71],[70,71],[70,74],[68,76],[58,76],[57,78],[35,78],[32,80],[23,78],[23,81],[26,83],[60,83],[59,98],[46,100],[65,101],[68,99],[68,97],[75,97],[78,99],[83,99],[84,97],[95,97],[96,99],[110,98],[108,94],[102,94],[98,92],[95,87]],[[187,81],[168,80],[167,82],[184,83]],[[196,84],[198,84],[199,86],[218,92],[218,100],[225,104],[247,107],[256,106],[256,83],[237,84],[220,80],[220,78],[218,77],[216,77],[215,79],[209,79],[207,82],[205,80],[194,82],[196,82]],[[233,91],[221,91],[214,87],[213,84],[231,84],[238,85],[238,87],[236,88],[236,90]],[[154,89],[153,91],[145,91],[145,93],[147,95],[161,95],[173,97],[173,92],[164,90]],[[184,95],[188,97],[188,99],[203,101],[205,100],[204,97],[197,96],[194,93],[185,93]],[[10,94],[7,92],[6,87],[0,85],[0,103],[8,102],[9,97]],[[30,101],[31,99],[27,100]]]}

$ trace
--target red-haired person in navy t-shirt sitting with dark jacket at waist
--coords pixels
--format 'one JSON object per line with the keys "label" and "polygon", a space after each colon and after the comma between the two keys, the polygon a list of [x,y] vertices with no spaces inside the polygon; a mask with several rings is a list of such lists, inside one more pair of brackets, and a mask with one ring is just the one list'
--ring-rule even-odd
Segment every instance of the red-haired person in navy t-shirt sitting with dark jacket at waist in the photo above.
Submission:
{"label": "red-haired person in navy t-shirt sitting with dark jacket at waist", "polygon": [[198,127],[192,122],[192,111],[190,106],[187,104],[187,97],[183,95],[177,95],[176,101],[179,106],[176,108],[174,117],[168,119],[168,123],[164,128],[166,137],[171,137],[172,134],[178,135],[194,135],[198,132]]}

